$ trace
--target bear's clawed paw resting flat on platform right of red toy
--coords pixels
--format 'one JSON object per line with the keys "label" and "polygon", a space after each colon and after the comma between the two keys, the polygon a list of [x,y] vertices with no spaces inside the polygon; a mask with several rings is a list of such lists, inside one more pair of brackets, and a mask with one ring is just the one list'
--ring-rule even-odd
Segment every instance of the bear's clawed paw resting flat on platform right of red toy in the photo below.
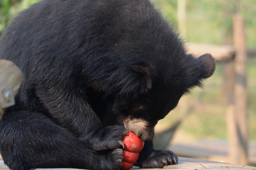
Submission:
{"label": "bear's clawed paw resting flat on platform right of red toy", "polygon": [[162,168],[165,165],[178,164],[178,157],[172,151],[158,151],[146,158],[142,164],[142,168]]}

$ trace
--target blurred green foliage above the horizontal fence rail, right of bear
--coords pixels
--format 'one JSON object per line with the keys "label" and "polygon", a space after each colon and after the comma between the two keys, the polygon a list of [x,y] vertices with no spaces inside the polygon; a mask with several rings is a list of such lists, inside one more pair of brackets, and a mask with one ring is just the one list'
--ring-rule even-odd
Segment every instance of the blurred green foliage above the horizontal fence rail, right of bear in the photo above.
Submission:
{"label": "blurred green foliage above the horizontal fence rail, right of bear", "polygon": [[[177,1],[151,0],[177,29]],[[228,44],[232,38],[232,16],[242,14],[246,23],[247,45],[256,46],[255,0],[186,1],[186,37],[195,43]]]}

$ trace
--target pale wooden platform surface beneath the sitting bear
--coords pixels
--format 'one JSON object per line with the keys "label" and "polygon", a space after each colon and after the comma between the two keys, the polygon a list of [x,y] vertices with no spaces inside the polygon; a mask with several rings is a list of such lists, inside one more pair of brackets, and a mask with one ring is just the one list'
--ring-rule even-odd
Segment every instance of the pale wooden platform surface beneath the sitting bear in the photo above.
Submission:
{"label": "pale wooden platform surface beneath the sitting bear", "polygon": [[[8,170],[9,168],[4,165],[3,160],[0,161],[0,170]],[[133,169],[140,169],[139,167],[134,166]],[[243,166],[243,165],[233,165],[228,163],[222,162],[213,162],[213,161],[206,161],[200,159],[191,159],[191,158],[184,158],[179,157],[179,164],[178,165],[169,165],[165,166],[163,169],[179,169],[179,170],[202,170],[202,169],[222,169],[222,170],[256,170],[256,167],[252,166]],[[36,169],[36,170],[75,170],[71,168],[47,168],[47,169]],[[149,169],[144,169],[149,170]],[[151,170],[160,170],[160,169],[151,169]]]}

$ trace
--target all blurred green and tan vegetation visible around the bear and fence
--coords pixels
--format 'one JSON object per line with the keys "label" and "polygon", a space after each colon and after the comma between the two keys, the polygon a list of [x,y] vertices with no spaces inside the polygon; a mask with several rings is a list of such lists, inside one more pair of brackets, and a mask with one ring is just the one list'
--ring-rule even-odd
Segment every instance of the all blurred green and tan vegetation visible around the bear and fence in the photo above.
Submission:
{"label": "all blurred green and tan vegetation visible around the bear and fence", "polygon": [[[38,0],[0,0],[0,35],[17,13]],[[178,0],[151,0],[161,9],[172,25],[177,27]],[[255,0],[190,0],[186,1],[186,37],[187,41],[210,44],[230,44],[232,42],[232,15],[240,13],[245,17],[247,45],[256,46],[256,4]],[[256,130],[256,60],[248,62],[248,114],[250,139]],[[226,109],[223,96],[223,64],[218,63],[217,70],[205,81],[205,88],[195,88],[185,96],[189,114],[185,116],[180,129],[196,138],[227,138]],[[161,120],[169,125],[181,116],[178,107],[172,114]]]}

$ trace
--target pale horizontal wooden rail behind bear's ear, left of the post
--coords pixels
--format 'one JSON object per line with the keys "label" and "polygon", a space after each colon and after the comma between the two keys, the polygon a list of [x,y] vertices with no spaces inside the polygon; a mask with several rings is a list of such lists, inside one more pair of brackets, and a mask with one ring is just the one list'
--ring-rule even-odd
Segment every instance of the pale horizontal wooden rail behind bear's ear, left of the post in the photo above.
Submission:
{"label": "pale horizontal wooden rail behind bear's ear, left of the post", "polygon": [[209,53],[216,61],[226,61],[234,58],[235,50],[232,45],[209,45],[209,44],[194,44],[187,45],[188,53],[199,57],[205,53]]}

